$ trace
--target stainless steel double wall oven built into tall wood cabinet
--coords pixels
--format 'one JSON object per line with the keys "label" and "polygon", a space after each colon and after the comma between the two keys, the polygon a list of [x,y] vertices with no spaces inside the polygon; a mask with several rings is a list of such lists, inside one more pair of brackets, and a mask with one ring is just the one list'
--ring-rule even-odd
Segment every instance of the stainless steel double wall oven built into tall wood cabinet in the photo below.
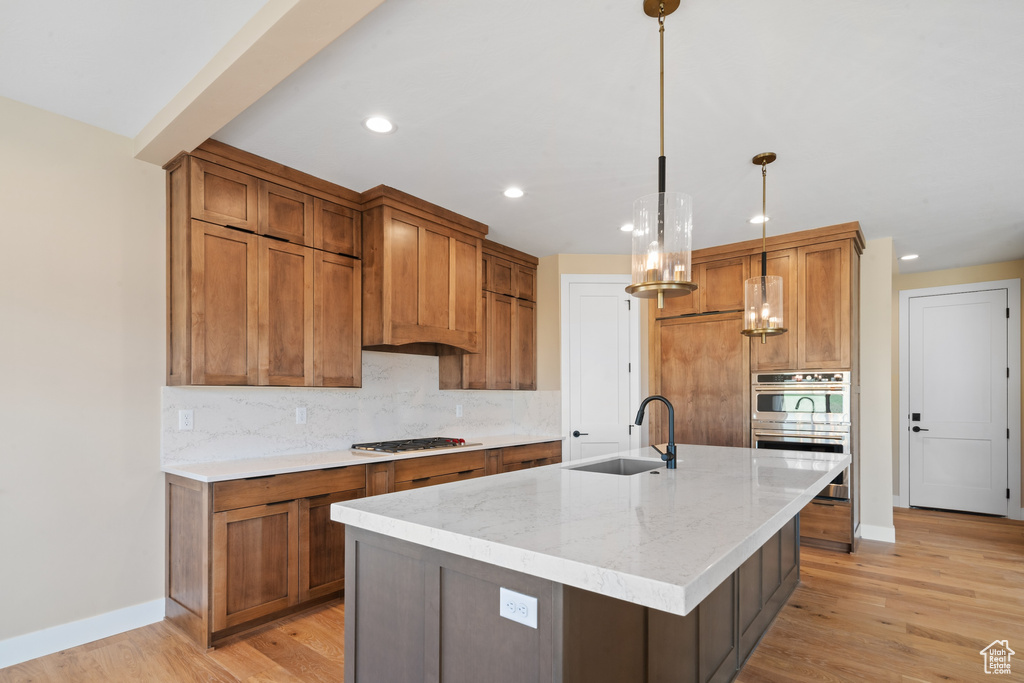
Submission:
{"label": "stainless steel double wall oven built into tall wood cabinet", "polygon": [[[751,445],[755,449],[850,453],[850,373],[754,373]],[[850,468],[820,498],[850,499]]]}

